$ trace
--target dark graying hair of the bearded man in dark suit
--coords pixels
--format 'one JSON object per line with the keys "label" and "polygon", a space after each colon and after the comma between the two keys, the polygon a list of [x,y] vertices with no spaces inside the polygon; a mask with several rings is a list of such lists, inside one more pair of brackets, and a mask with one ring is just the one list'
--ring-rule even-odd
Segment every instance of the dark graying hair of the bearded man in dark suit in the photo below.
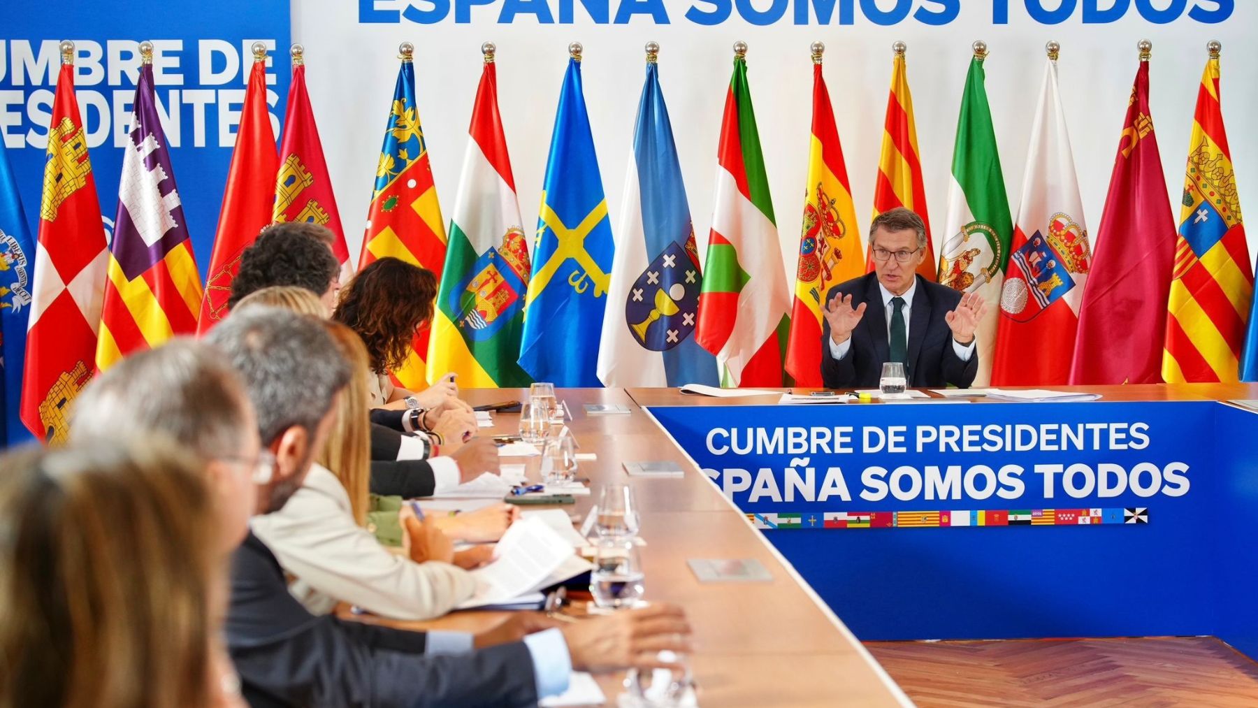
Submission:
{"label": "dark graying hair of the bearded man in dark suit", "polygon": [[323,323],[268,306],[248,306],[210,331],[206,341],[226,355],[244,380],[258,415],[258,435],[269,445],[284,430],[313,433],[350,382],[350,365]]}

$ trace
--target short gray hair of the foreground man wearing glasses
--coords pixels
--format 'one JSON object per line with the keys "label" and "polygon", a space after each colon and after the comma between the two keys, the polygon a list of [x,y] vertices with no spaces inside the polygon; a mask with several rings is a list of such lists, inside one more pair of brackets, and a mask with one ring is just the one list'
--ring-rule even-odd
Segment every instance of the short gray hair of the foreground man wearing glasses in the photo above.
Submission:
{"label": "short gray hair of the foreground man wearing glasses", "polygon": [[70,439],[145,439],[162,433],[203,460],[247,446],[249,397],[209,345],[179,337],[98,375],[75,399]]}

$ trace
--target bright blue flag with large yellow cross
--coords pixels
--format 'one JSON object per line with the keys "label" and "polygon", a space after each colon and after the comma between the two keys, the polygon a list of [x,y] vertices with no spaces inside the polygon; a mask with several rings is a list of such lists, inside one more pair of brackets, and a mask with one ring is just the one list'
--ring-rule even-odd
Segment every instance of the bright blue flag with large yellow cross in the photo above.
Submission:
{"label": "bright blue flag with large yellow cross", "polygon": [[594,333],[603,329],[614,248],[577,52],[560,89],[525,306],[520,366],[535,380],[601,386]]}

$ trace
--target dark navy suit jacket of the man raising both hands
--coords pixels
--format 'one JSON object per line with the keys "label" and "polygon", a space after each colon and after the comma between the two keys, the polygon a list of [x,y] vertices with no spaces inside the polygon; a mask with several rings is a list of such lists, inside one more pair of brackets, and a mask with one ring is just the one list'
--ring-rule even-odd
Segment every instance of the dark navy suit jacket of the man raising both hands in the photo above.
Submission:
{"label": "dark navy suit jacket of the man raising both hands", "polygon": [[[952,348],[952,331],[944,316],[956,309],[961,293],[931,283],[921,275],[913,290],[908,319],[908,386],[911,389],[944,387],[954,385],[967,389],[979,372],[979,352],[969,361],[961,361]],[[887,308],[882,304],[878,275],[869,273],[839,283],[825,294],[823,307],[835,294],[852,296],[852,307],[866,303],[864,316],[852,331],[848,353],[835,360],[830,356],[830,324],[823,319],[821,329],[821,380],[827,389],[877,389],[882,377],[882,365],[891,360],[887,337]]]}

